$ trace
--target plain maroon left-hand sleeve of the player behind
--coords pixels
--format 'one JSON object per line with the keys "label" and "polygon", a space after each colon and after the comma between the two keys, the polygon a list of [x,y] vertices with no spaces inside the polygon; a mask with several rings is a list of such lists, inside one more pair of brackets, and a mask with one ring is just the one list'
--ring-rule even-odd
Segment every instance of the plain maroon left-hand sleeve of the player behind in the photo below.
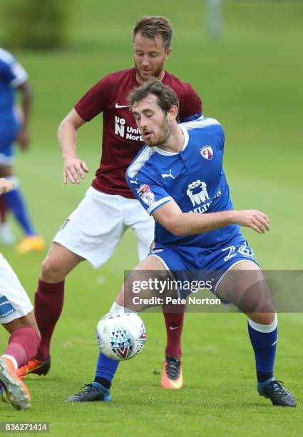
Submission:
{"label": "plain maroon left-hand sleeve of the player behind", "polygon": [[106,76],[84,94],[76,103],[74,109],[76,109],[83,120],[91,121],[93,117],[96,117],[106,108],[110,92],[111,81]]}

